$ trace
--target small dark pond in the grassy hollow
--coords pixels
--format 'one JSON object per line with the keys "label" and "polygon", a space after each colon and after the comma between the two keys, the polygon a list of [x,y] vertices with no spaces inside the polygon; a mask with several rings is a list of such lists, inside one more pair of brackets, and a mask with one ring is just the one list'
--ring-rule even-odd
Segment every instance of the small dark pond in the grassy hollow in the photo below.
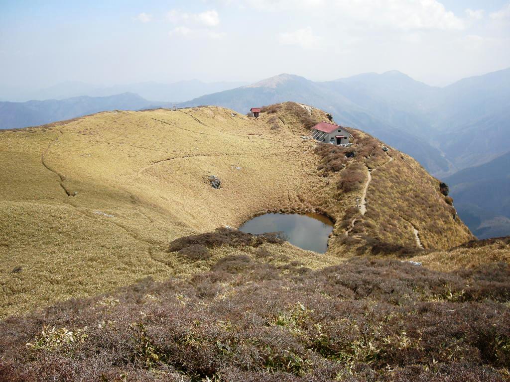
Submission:
{"label": "small dark pond in the grassy hollow", "polygon": [[240,231],[253,235],[283,232],[287,240],[303,250],[325,253],[327,239],[333,231],[333,222],[317,213],[265,213],[244,223]]}

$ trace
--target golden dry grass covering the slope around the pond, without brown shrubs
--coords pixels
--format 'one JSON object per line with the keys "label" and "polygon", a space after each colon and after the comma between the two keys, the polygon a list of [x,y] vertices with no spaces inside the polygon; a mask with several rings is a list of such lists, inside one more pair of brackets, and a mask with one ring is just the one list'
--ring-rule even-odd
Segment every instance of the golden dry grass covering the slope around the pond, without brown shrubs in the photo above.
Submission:
{"label": "golden dry grass covering the slope around the pond, without brown shrubs", "polygon": [[[350,256],[351,248],[335,238],[344,234],[340,223],[361,190],[343,195],[336,175],[317,170],[320,158],[314,142],[299,137],[306,130],[295,107],[284,104],[259,120],[214,106],[108,112],[0,134],[0,316],[147,276],[163,280],[207,269],[165,252],[168,242],[237,227],[266,210],[316,208],[337,222],[327,254],[286,244],[289,258],[317,268]],[[311,118],[326,115],[314,110]],[[413,159],[405,161],[412,163],[407,175],[432,182]],[[210,186],[209,175],[221,179],[221,189]],[[385,187],[402,194],[400,183]],[[375,189],[369,198],[368,211]],[[422,217],[435,222],[434,213]],[[415,224],[421,229],[421,221]],[[430,231],[424,243],[447,248],[471,237],[460,222],[444,224],[447,241]],[[377,227],[366,234],[377,236]],[[405,226],[384,239],[407,243],[413,233]]]}

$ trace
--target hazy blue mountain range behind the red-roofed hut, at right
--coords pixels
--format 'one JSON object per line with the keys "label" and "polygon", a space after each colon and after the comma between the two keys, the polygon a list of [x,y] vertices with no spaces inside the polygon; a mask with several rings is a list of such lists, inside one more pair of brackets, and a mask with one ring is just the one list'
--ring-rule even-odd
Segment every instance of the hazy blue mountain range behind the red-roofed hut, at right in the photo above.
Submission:
{"label": "hazy blue mountain range behind the red-roofed hut, at right", "polygon": [[368,131],[439,176],[510,150],[510,68],[445,88],[398,71],[324,82],[281,74],[180,105],[215,104],[245,113],[252,106],[287,100],[322,108],[338,123]]}

